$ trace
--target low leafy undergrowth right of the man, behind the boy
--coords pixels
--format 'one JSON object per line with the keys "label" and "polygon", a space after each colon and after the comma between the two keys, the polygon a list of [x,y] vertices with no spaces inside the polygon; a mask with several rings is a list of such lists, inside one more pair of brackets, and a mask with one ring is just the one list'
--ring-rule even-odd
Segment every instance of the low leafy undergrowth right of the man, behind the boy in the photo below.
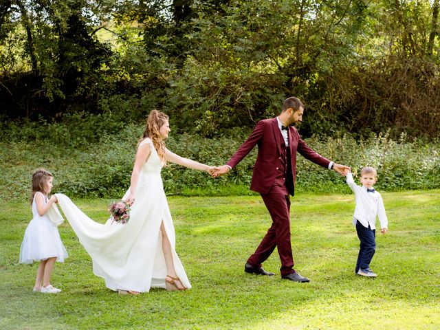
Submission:
{"label": "low leafy undergrowth right of the man, behind the boy", "polygon": [[[432,142],[408,142],[402,135],[399,141],[388,135],[371,134],[366,140],[356,141],[350,135],[307,140],[321,155],[351,166],[359,174],[363,166],[377,168],[380,190],[432,189],[440,186],[440,148]],[[298,157],[297,185],[307,190],[339,191],[340,177],[330,171],[316,169],[316,165]],[[313,188],[313,187],[316,188]],[[344,190],[349,191],[347,187]]]}

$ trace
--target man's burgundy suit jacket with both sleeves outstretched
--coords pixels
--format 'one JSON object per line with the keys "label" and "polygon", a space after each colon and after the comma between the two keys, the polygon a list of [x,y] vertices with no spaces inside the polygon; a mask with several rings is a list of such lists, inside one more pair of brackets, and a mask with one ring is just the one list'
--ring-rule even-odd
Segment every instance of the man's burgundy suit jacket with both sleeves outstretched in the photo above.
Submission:
{"label": "man's burgundy suit jacket with both sleeves outstretched", "polygon": [[[258,144],[259,153],[254,164],[254,173],[250,189],[262,194],[267,194],[272,188],[277,171],[281,168],[281,140],[283,135],[278,127],[276,118],[265,119],[258,122],[254,131],[249,135],[248,139],[240,146],[240,148],[229,159],[228,164],[232,168],[239,164],[241,160],[252,151],[254,146]],[[296,153],[300,153],[306,159],[320,166],[328,167],[329,159],[322,157],[316,151],[309,148],[307,144],[301,140],[301,137],[293,126],[289,126],[289,148],[292,180],[296,179]]]}

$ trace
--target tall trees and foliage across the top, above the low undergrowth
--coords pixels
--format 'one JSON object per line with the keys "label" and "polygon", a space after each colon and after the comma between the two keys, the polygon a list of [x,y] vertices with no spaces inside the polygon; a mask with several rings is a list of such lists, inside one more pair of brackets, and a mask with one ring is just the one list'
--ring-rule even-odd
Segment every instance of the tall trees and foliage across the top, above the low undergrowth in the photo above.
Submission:
{"label": "tall trees and foliage across the top, above the low undergrowth", "polygon": [[158,108],[215,137],[305,101],[303,133],[437,137],[439,0],[3,1],[3,118]]}

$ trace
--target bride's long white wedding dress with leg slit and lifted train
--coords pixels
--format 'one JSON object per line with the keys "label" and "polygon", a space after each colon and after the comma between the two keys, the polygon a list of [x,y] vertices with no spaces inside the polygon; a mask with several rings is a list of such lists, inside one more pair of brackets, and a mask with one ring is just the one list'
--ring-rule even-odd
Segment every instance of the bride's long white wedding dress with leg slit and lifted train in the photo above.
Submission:
{"label": "bride's long white wedding dress with leg slit and lifted train", "polygon": [[63,194],[56,194],[58,204],[91,256],[94,274],[102,276],[109,289],[148,292],[150,287],[165,287],[162,221],[173,251],[176,274],[189,289],[188,276],[175,252],[174,225],[160,176],[163,164],[153,142],[146,138],[140,145],[145,143],[150,144],[151,154],[142,167],[128,223],[112,223],[111,219],[105,224],[97,223]]}

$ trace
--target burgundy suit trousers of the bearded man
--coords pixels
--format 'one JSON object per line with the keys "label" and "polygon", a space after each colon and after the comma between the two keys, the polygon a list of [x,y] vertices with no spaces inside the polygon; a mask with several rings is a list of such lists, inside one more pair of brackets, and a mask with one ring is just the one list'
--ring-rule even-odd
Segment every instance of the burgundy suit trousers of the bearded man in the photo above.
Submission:
{"label": "burgundy suit trousers of the bearded man", "polygon": [[261,263],[269,258],[276,247],[281,259],[281,276],[292,274],[295,270],[290,243],[290,197],[287,187],[274,185],[270,192],[261,194],[261,197],[272,217],[272,226],[254,254],[249,257],[248,263],[261,267]]}

